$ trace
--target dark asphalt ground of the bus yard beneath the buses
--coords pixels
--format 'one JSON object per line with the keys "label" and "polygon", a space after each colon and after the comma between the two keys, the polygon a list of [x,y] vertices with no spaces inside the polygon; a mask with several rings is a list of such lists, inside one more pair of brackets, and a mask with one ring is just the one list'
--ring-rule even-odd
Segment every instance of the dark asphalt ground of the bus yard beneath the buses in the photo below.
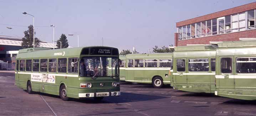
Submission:
{"label": "dark asphalt ground of the bus yard beneath the buses", "polygon": [[256,101],[174,90],[169,85],[121,83],[121,96],[102,101],[34,93],[14,85],[14,71],[0,71],[0,116],[256,116]]}

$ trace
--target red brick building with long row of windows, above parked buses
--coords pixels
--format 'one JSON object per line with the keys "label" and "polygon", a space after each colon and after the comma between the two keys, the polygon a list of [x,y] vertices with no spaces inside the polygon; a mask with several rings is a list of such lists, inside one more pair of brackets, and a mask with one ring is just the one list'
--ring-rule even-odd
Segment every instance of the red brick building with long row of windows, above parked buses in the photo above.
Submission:
{"label": "red brick building with long row of windows, above parked buses", "polygon": [[256,38],[256,2],[176,23],[175,46]]}

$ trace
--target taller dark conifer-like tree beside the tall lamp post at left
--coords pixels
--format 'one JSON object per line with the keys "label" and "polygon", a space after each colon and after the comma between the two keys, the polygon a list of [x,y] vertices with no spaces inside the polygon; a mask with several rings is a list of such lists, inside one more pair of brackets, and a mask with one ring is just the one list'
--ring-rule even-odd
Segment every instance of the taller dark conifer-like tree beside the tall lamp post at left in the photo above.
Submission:
{"label": "taller dark conifer-like tree beside the tall lamp post at left", "polygon": [[[21,48],[33,48],[33,43],[34,43],[34,27],[30,25],[28,27],[29,29],[27,31],[24,31],[24,38],[22,38],[22,43],[21,43]],[[35,32],[36,33],[36,32]],[[38,38],[35,38],[35,47],[39,47],[40,45],[40,40]]]}

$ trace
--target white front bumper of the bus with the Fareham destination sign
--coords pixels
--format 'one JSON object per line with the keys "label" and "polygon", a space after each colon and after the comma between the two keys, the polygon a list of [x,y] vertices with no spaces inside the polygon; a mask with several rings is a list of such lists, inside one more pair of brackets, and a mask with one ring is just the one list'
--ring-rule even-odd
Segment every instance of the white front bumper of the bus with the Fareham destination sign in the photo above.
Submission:
{"label": "white front bumper of the bus with the Fareham destination sign", "polygon": [[101,97],[101,96],[120,96],[121,92],[103,92],[103,93],[79,93],[79,98],[89,98],[89,97]]}

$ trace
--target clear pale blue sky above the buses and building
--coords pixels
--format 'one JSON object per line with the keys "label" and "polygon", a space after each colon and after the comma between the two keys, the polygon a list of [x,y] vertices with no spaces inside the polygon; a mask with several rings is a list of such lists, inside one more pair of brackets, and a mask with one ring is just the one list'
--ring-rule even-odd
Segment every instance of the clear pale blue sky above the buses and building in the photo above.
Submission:
{"label": "clear pale blue sky above the buses and building", "polygon": [[[174,43],[176,22],[255,2],[255,0],[0,0],[0,35],[24,37],[35,16],[36,37],[52,42],[62,33],[70,46],[101,45],[147,52]],[[15,26],[7,29],[6,25]],[[25,26],[25,27],[22,27]]]}

